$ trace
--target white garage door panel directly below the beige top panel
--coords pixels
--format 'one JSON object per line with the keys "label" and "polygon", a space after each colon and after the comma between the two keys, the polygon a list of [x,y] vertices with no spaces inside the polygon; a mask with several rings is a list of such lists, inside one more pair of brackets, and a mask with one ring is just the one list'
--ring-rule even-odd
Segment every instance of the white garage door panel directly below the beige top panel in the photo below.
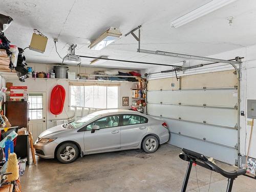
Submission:
{"label": "white garage door panel directly below the beige top panel", "polygon": [[198,104],[212,106],[230,106],[237,104],[236,90],[200,90],[200,91],[151,91],[148,102]]}

